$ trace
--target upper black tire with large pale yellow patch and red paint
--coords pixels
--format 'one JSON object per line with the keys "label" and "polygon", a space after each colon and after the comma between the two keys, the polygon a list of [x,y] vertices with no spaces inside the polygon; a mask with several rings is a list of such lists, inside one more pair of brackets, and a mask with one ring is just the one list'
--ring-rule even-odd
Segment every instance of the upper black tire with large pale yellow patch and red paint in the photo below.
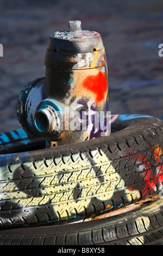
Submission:
{"label": "upper black tire with large pale yellow patch and red paint", "polygon": [[1,229],[79,220],[159,191],[163,121],[119,115],[111,127],[108,137],[1,155]]}

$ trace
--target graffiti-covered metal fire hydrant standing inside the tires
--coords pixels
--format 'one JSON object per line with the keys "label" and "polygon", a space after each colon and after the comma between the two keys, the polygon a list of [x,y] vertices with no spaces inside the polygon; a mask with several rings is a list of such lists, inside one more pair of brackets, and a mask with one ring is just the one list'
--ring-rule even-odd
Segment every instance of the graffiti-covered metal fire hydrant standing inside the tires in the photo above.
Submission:
{"label": "graffiti-covered metal fire hydrant standing inside the tires", "polygon": [[27,84],[17,115],[47,147],[105,136],[109,127],[108,70],[101,35],[69,21],[67,31],[49,36],[46,76]]}

